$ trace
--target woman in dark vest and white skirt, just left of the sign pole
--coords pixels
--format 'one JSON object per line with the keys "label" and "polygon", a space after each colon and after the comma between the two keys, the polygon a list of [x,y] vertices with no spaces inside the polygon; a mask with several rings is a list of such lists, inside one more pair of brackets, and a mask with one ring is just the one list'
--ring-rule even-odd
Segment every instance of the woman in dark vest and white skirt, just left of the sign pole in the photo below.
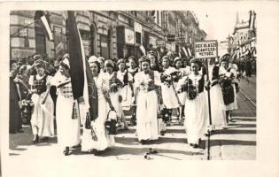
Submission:
{"label": "woman in dark vest and white skirt, just left of the sign pole", "polygon": [[198,148],[200,139],[205,134],[205,123],[208,114],[205,98],[205,79],[198,71],[201,69],[201,62],[194,58],[190,61],[191,73],[185,79],[182,88],[187,92],[185,101],[185,121],[187,141],[190,146]]}

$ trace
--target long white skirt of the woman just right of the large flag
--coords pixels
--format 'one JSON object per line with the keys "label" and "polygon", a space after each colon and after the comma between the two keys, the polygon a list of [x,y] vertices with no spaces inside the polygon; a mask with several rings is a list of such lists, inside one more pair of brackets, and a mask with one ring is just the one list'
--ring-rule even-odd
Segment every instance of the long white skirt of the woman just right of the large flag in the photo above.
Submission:
{"label": "long white skirt of the woman just right of the large flag", "polygon": [[105,128],[107,106],[105,97],[98,99],[98,117],[92,121],[92,127],[97,135],[97,141],[92,139],[90,129],[83,128],[81,151],[105,150],[114,145],[114,136],[108,135],[108,131]]}

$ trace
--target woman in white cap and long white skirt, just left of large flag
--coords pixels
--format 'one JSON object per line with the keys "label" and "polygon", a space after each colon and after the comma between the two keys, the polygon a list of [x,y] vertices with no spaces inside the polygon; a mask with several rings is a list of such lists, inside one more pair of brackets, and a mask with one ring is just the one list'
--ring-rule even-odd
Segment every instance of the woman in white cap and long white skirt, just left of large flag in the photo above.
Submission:
{"label": "woman in white cap and long white skirt, just left of large flag", "polygon": [[68,156],[70,147],[77,146],[81,142],[80,119],[74,108],[77,105],[74,103],[68,58],[61,61],[58,72],[50,82],[57,87],[58,93],[56,104],[58,147]]}

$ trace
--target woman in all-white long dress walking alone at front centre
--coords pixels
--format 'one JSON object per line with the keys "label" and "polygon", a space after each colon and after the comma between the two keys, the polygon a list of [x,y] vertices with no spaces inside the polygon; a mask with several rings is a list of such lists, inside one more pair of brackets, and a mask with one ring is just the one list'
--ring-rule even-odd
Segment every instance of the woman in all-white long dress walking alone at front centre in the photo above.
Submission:
{"label": "woman in all-white long dress walking alone at front centre", "polygon": [[136,88],[139,89],[136,109],[136,133],[138,141],[146,143],[159,138],[157,120],[158,96],[156,86],[160,85],[160,74],[152,71],[148,58],[143,56],[143,71],[137,73]]}

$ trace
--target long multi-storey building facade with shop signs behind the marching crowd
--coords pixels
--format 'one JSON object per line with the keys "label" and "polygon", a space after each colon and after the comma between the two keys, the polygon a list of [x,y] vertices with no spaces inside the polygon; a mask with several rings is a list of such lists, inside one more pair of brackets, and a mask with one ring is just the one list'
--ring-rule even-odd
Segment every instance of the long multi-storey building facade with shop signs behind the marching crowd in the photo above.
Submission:
{"label": "long multi-storey building facade with shop signs behind the marching crowd", "polygon": [[[40,53],[49,58],[68,50],[67,12],[44,11],[53,40],[45,35],[40,11],[13,11],[10,24],[11,58]],[[75,12],[85,55],[128,58],[145,50],[174,50],[205,40],[193,12],[182,11],[80,11]],[[173,37],[173,38],[172,38]]]}

